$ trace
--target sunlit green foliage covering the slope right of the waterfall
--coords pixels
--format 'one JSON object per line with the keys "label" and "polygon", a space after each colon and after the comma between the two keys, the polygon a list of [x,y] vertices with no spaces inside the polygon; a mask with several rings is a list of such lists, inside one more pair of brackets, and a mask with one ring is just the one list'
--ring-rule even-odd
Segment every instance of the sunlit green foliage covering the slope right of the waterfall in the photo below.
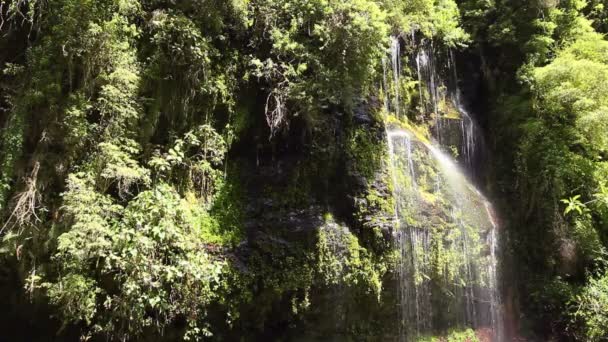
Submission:
{"label": "sunlit green foliage covering the slope right of the waterfall", "polygon": [[[492,183],[508,218],[524,328],[608,335],[605,9],[601,1],[462,1],[484,68]],[[519,271],[517,271],[519,270]],[[593,294],[592,294],[593,293]]]}

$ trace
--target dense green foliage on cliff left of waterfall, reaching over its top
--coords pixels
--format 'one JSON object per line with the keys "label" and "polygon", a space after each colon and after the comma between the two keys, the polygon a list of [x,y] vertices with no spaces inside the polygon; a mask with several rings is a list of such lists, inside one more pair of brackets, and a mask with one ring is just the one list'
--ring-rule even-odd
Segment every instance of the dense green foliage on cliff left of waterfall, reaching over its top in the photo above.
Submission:
{"label": "dense green foliage on cliff left of waterfall, reaching over its top", "polygon": [[[286,310],[293,326],[328,289],[380,308],[390,200],[346,183],[377,200],[344,214],[328,179],[347,162],[381,182],[381,126],[353,113],[391,34],[455,46],[458,13],[452,0],[0,1],[7,318],[48,311],[38,326],[68,339],[231,340]],[[304,162],[259,189],[258,167],[280,170],[288,149]],[[256,214],[259,196],[273,215],[326,217],[302,235]]]}

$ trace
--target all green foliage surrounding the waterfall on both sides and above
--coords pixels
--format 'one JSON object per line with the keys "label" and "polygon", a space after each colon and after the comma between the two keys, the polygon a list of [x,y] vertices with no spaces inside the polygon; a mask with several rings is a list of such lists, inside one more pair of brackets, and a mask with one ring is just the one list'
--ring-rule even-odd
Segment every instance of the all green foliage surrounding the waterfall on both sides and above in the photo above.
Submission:
{"label": "all green foliage surrounding the waterfall on both sides and above", "polygon": [[3,315],[66,340],[394,328],[378,102],[428,94],[408,56],[381,89],[392,35],[475,89],[521,331],[605,339],[606,6],[0,0]]}

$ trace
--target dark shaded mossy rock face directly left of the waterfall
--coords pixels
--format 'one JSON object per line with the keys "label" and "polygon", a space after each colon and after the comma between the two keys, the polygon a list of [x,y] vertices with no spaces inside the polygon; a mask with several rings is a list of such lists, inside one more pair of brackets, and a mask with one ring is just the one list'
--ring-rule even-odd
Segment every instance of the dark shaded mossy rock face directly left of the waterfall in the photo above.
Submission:
{"label": "dark shaded mossy rock face directly left of the waterfall", "polygon": [[242,147],[246,238],[232,253],[248,299],[238,294],[236,325],[218,338],[398,339],[394,204],[373,106],[327,123],[325,144],[288,133],[257,160]]}

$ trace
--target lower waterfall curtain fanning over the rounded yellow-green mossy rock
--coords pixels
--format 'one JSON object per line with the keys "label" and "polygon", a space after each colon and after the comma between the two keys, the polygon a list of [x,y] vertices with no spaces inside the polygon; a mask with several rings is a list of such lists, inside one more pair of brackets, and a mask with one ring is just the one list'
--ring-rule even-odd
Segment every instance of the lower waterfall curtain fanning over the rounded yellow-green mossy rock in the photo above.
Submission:
{"label": "lower waterfall curtain fanning over the rounded yellow-green mossy rock", "polygon": [[487,329],[500,341],[491,204],[437,147],[403,130],[389,130],[388,145],[402,341],[455,327]]}

